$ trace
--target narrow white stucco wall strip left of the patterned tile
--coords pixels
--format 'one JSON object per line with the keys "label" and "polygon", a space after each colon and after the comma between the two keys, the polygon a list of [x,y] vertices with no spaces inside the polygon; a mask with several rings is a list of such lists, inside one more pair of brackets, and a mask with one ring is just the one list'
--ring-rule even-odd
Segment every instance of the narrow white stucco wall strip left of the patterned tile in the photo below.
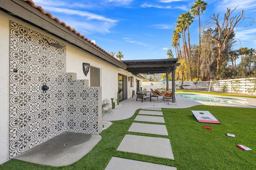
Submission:
{"label": "narrow white stucco wall strip left of the patterned tile", "polygon": [[9,159],[9,25],[0,11],[0,164]]}

